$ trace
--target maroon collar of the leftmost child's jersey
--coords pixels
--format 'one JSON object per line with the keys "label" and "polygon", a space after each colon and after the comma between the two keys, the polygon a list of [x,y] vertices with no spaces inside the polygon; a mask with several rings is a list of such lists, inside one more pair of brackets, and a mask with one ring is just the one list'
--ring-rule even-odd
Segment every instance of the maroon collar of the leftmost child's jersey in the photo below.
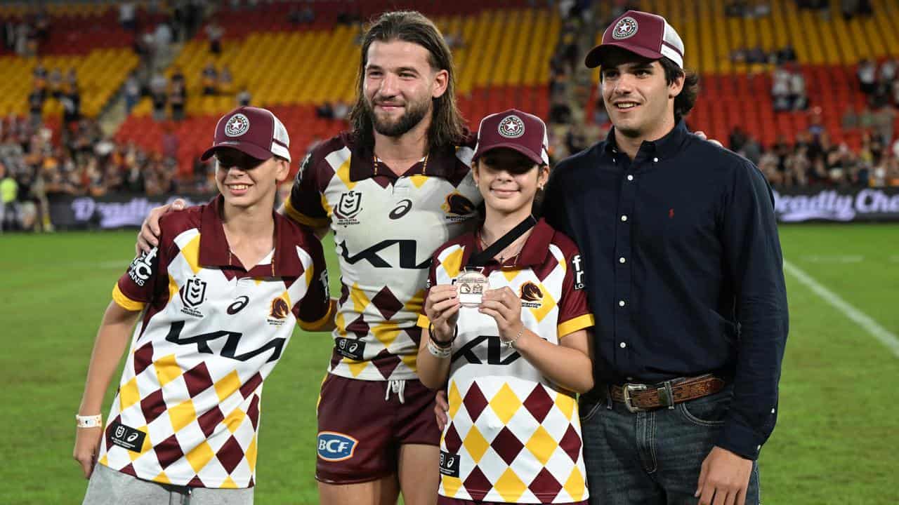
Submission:
{"label": "maroon collar of the leftmost child's jersey", "polygon": [[[227,244],[221,219],[224,203],[225,197],[218,195],[203,206],[200,217],[200,265],[245,270],[246,267],[240,260],[230,253],[230,246]],[[289,223],[287,217],[274,210],[271,214],[275,220],[275,252],[271,259],[274,264],[253,265],[247,274],[251,277],[298,277],[303,272],[303,265],[297,253],[291,250],[291,244],[301,244],[301,239],[296,236],[296,228]]]}

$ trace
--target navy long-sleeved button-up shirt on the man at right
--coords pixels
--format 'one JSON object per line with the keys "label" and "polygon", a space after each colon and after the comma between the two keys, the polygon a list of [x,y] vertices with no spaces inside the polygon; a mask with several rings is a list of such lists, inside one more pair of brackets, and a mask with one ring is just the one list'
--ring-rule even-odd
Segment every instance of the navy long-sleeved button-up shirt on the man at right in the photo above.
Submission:
{"label": "navy long-sleeved button-up shirt on the man at right", "polygon": [[613,129],[556,166],[543,209],[584,259],[597,384],[733,377],[717,445],[755,459],[777,419],[788,332],[773,196],[759,170],[683,121],[634,160]]}

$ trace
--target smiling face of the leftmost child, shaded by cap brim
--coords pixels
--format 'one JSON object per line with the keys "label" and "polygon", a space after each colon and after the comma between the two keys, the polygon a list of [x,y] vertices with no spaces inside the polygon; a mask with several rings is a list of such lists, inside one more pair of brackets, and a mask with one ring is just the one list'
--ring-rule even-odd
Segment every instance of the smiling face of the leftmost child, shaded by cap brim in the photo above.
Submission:
{"label": "smiling face of the leftmost child, shaded by cap brim", "polygon": [[257,160],[231,147],[219,148],[215,156],[216,185],[227,205],[274,205],[277,183],[284,181],[289,172],[286,161],[275,156]]}

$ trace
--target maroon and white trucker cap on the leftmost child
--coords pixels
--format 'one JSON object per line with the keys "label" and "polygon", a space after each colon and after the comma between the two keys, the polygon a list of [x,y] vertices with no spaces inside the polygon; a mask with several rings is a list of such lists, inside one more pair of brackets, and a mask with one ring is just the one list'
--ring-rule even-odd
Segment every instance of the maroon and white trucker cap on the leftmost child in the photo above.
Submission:
{"label": "maroon and white trucker cap on the leftmost child", "polygon": [[238,107],[216,124],[212,146],[200,156],[206,161],[219,147],[233,147],[257,160],[279,155],[290,161],[287,128],[271,111],[259,107]]}

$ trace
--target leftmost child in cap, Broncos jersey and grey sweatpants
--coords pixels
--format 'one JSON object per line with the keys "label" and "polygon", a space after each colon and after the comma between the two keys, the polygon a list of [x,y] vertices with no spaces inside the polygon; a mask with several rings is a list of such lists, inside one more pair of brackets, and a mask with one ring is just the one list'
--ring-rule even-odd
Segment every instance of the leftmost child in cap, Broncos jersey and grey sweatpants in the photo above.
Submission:
{"label": "leftmost child in cap, Broncos jersey and grey sweatpants", "polygon": [[270,111],[219,120],[202,158],[216,156],[221,195],[166,216],[159,245],[113,288],[76,415],[85,504],[253,502],[263,380],[296,322],[334,327],[321,244],[273,211],[288,146]]}

